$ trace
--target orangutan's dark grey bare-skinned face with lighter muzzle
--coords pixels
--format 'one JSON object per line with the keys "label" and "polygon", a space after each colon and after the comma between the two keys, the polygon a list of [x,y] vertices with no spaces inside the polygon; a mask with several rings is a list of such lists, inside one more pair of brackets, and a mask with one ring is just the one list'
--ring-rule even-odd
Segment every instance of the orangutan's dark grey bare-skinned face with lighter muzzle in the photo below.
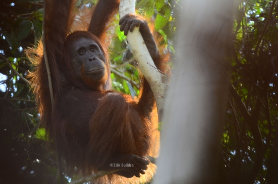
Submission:
{"label": "orangutan's dark grey bare-skinned face with lighter muzzle", "polygon": [[72,43],[71,50],[76,77],[100,90],[107,81],[106,61],[100,47],[92,39],[79,38]]}

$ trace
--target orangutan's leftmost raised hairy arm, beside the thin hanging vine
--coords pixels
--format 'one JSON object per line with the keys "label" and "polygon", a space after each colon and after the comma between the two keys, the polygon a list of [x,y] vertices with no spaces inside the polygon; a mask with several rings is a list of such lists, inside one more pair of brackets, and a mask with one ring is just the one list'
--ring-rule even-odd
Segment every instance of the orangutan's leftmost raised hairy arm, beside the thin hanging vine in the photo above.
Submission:
{"label": "orangutan's leftmost raised hairy arm, beside the thin hanging vine", "polygon": [[[74,21],[73,9],[77,0],[45,0],[44,34],[48,62],[51,71],[54,96],[61,88],[61,61],[63,42]],[[42,64],[44,65],[44,61]],[[60,67],[59,67],[60,66]],[[48,80],[47,80],[48,81]]]}

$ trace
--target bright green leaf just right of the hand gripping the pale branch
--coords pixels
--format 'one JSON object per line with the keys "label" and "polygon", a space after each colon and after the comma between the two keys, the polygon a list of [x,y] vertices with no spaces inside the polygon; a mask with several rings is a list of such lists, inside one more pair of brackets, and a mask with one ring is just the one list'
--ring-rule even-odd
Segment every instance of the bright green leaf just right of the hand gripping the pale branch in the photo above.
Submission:
{"label": "bright green leaf just right of the hand gripping the pale branch", "polygon": [[171,7],[169,5],[166,5],[162,9],[162,11],[159,14],[157,14],[154,23],[155,31],[162,29],[169,22],[168,19],[170,18],[170,16],[171,16]]}

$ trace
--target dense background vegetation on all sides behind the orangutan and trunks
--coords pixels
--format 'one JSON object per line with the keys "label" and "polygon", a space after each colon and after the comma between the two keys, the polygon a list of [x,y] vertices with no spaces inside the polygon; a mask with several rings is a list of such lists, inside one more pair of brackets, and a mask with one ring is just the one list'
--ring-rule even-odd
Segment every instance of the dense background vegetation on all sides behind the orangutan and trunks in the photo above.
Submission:
{"label": "dense background vegetation on all sides behind the orangutan and trunks", "polygon": [[[76,10],[82,12],[95,3],[95,0],[80,0]],[[218,180],[219,183],[278,183],[278,4],[268,0],[236,1],[236,4],[234,52],[227,60],[231,66],[231,87]],[[43,6],[43,1],[34,0],[0,2],[1,183],[57,180],[55,152],[48,149],[45,129],[39,126],[40,115],[32,90],[14,72],[27,78],[28,71],[34,68],[24,50],[36,47],[40,40]],[[173,53],[175,17],[177,9],[182,10],[178,1],[142,0],[137,8],[138,13],[153,21],[164,52]],[[113,88],[138,95],[137,64],[119,27],[115,26],[111,32],[115,34],[110,55]],[[64,176],[65,181],[74,177]]]}

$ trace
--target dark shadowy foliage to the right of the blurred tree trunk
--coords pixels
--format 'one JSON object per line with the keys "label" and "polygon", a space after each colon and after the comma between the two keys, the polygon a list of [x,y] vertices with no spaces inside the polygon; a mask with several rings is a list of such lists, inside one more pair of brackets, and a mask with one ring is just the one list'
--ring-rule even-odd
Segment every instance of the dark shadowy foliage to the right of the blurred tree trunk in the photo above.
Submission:
{"label": "dark shadowy foliage to the right of the blurred tree trunk", "polygon": [[233,87],[219,183],[278,183],[278,5],[271,12],[274,2],[238,2],[230,61]]}

